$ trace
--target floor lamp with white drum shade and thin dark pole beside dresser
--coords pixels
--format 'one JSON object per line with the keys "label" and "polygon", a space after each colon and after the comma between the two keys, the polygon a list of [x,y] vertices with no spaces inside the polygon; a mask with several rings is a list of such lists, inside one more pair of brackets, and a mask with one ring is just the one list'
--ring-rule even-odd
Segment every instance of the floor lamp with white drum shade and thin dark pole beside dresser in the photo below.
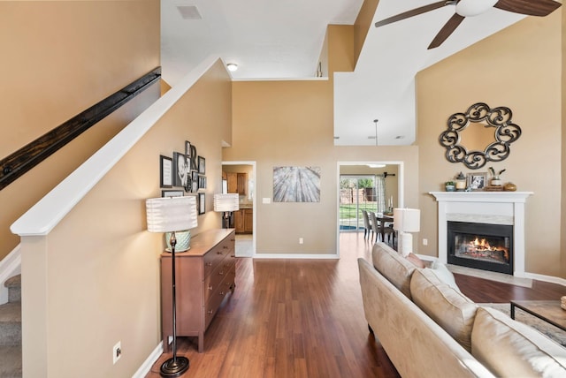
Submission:
{"label": "floor lamp with white drum shade and thin dark pole beside dresser", "polygon": [[[171,232],[172,264],[172,335],[173,356],[161,365],[161,376],[178,377],[188,369],[188,359],[177,356],[177,298],[175,292],[175,238],[176,231],[188,231],[197,226],[196,197],[151,198],[146,200],[149,232]],[[190,246],[189,246],[190,248]]]}

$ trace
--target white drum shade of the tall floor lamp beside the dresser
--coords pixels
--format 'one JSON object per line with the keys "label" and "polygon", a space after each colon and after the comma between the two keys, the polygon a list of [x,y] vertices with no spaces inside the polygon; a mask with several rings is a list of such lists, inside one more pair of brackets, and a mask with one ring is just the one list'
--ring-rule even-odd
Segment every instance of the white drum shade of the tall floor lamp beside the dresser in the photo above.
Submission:
{"label": "white drum shade of the tall floor lamp beside the dresser", "polygon": [[145,208],[149,232],[185,231],[198,225],[194,196],[150,198]]}

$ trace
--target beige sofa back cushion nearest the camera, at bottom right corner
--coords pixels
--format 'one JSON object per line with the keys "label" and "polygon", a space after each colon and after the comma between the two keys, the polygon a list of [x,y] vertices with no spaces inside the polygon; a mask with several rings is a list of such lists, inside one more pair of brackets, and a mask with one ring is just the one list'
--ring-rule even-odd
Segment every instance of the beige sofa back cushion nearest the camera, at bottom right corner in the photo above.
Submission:
{"label": "beige sofa back cushion nearest the camera, at bottom right corner", "polygon": [[566,376],[566,349],[493,308],[478,308],[471,354],[498,376]]}

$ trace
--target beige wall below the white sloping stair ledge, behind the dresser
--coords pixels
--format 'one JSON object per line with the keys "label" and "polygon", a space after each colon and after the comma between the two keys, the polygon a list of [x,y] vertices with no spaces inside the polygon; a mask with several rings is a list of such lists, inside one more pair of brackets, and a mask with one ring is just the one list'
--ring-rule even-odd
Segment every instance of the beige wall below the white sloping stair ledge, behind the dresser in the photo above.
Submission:
{"label": "beige wall below the white sloping stair ledge, behind the dresser", "polygon": [[[159,344],[164,235],[146,231],[145,200],[161,194],[159,155],[189,140],[208,178],[207,212],[193,234],[220,226],[212,194],[221,187],[230,86],[218,60],[48,236],[22,238],[26,376],[131,376]],[[123,353],[112,365],[118,341]]]}

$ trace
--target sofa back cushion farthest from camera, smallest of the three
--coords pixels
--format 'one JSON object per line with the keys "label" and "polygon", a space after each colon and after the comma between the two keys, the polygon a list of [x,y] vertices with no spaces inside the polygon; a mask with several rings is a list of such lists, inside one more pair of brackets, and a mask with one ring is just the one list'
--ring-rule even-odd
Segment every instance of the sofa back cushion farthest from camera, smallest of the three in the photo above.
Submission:
{"label": "sofa back cushion farthest from camera, smallest of the three", "polygon": [[385,243],[376,243],[371,251],[373,267],[410,299],[410,276],[416,267]]}

